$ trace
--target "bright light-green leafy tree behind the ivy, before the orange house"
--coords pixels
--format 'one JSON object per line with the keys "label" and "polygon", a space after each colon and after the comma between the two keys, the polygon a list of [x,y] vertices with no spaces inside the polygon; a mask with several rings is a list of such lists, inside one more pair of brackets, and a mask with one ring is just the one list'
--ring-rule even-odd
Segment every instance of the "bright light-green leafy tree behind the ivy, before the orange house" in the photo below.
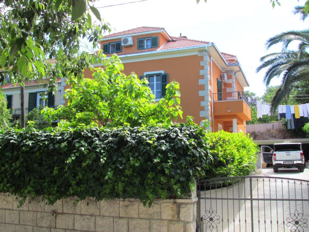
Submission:
{"label": "bright light-green leafy tree behind the ivy, before the orange house", "polygon": [[67,105],[57,110],[44,108],[44,118],[63,119],[60,125],[70,127],[168,125],[178,116],[182,118],[178,83],[167,84],[165,96],[155,101],[146,79],[121,72],[123,64],[117,55],[110,58],[104,55],[102,66],[93,69],[93,79],[72,83],[66,90]]}

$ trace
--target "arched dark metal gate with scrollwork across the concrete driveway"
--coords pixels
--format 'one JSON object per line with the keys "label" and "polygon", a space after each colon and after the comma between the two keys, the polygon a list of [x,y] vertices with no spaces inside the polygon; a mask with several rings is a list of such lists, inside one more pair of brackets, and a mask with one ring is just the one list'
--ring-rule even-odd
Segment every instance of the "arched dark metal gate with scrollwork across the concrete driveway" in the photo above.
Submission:
{"label": "arched dark metal gate with scrollwork across the concrete driveway", "polygon": [[308,184],[265,176],[199,181],[197,231],[309,231]]}

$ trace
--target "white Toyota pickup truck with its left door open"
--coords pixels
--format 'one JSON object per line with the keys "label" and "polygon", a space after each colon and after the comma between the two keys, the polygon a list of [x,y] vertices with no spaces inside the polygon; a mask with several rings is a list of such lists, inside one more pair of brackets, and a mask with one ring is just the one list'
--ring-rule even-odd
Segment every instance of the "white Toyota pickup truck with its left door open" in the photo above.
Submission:
{"label": "white Toyota pickup truck with its left door open", "polygon": [[[270,152],[263,152],[270,149]],[[272,157],[273,171],[278,172],[278,168],[297,167],[300,172],[305,169],[305,158],[301,143],[281,143],[273,144],[273,148],[261,147],[262,159],[265,163],[270,163]]]}

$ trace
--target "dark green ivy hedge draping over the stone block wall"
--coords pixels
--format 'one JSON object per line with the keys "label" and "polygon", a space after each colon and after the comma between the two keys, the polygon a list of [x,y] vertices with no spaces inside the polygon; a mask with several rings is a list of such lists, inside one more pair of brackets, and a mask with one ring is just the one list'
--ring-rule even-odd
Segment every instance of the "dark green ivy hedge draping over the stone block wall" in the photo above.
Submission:
{"label": "dark green ivy hedge draping over the stone block wall", "polygon": [[[7,130],[0,134],[0,192],[42,196],[48,204],[83,200],[155,198],[190,194],[211,157],[197,126],[73,130]],[[22,203],[22,201],[21,201]]]}

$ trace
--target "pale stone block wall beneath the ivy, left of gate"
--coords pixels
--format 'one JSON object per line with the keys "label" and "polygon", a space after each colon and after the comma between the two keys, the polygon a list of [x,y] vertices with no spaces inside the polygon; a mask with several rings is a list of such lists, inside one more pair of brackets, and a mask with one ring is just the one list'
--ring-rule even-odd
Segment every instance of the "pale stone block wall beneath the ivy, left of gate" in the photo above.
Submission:
{"label": "pale stone block wall beneath the ivy, left of gate", "polygon": [[15,196],[0,194],[1,232],[195,232],[197,198],[156,200],[144,207],[139,200],[74,199],[46,205],[27,199],[18,208]]}

